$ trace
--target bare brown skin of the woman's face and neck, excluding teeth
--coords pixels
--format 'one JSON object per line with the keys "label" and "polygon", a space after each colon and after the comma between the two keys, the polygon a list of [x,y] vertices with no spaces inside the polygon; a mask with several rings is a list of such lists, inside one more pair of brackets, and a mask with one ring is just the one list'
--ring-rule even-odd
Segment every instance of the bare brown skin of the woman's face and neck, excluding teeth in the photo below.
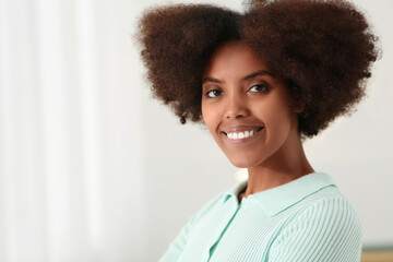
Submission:
{"label": "bare brown skin of the woman's face and neck, excluding teeth", "polygon": [[[289,107],[285,80],[243,41],[228,41],[213,53],[202,76],[202,117],[215,142],[237,167],[248,168],[239,202],[313,172]],[[224,132],[261,131],[243,142]]]}

